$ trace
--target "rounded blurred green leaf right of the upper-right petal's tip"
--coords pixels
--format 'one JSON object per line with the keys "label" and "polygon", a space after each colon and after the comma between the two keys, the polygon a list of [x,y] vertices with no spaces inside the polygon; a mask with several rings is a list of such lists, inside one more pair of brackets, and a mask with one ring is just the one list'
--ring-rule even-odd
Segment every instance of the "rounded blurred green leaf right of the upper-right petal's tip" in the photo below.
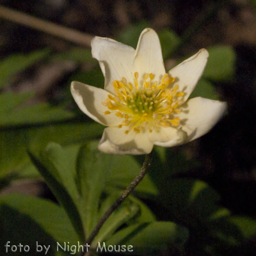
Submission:
{"label": "rounded blurred green leaf right of the upper-right petal's tip", "polygon": [[216,46],[207,49],[209,58],[203,77],[212,81],[227,81],[235,72],[236,53],[230,46]]}

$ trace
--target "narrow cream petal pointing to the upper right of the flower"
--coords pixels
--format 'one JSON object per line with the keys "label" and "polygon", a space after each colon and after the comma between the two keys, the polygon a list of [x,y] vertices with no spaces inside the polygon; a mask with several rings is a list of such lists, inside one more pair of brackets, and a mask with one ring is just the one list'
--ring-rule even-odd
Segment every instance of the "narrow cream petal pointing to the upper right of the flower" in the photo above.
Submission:
{"label": "narrow cream petal pointing to the upper right of the flower", "polygon": [[204,72],[209,53],[201,49],[195,55],[172,68],[168,74],[175,78],[173,84],[179,85],[179,92],[184,92],[180,104],[184,103],[195,89],[195,86]]}

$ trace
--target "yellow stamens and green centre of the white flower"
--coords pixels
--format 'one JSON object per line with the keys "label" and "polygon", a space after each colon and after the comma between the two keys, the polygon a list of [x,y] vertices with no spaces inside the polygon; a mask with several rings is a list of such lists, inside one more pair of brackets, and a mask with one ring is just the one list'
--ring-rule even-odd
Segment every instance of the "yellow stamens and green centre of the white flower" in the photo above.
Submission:
{"label": "yellow stamens and green centre of the white flower", "polygon": [[179,118],[175,118],[180,110],[180,100],[177,99],[184,95],[183,92],[177,92],[178,85],[169,86],[174,81],[173,77],[164,74],[161,83],[154,81],[154,75],[145,74],[143,83],[138,82],[138,72],[134,73],[134,84],[127,82],[125,77],[122,81],[113,81],[116,95],[108,95],[106,102],[102,105],[108,107],[105,115],[115,114],[120,117],[119,128],[127,126],[125,134],[134,130],[136,132],[148,129],[159,129],[159,127],[178,126]]}

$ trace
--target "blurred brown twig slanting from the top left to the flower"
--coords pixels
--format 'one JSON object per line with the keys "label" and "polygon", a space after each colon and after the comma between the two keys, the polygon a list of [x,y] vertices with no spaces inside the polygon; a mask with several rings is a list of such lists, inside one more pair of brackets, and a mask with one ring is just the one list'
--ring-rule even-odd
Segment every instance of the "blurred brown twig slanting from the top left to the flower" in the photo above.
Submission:
{"label": "blurred brown twig slanting from the top left to the flower", "polygon": [[47,34],[58,36],[75,44],[91,47],[92,35],[81,33],[75,29],[56,25],[52,22],[38,19],[26,13],[10,10],[0,5],[0,18],[10,20],[20,25],[43,31]]}

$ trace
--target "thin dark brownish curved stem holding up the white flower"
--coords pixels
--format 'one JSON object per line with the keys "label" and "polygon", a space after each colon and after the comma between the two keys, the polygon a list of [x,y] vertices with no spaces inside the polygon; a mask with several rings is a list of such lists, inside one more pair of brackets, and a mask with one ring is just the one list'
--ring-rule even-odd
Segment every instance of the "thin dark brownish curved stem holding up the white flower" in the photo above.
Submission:
{"label": "thin dark brownish curved stem holding up the white flower", "polygon": [[[99,233],[100,228],[102,227],[102,225],[105,223],[106,220],[108,220],[109,216],[112,214],[113,211],[115,211],[115,209],[122,204],[122,202],[125,200],[125,198],[132,192],[132,190],[134,188],[136,188],[136,186],[141,182],[141,180],[143,179],[143,177],[145,176],[145,174],[147,173],[147,170],[151,164],[152,161],[152,152],[150,154],[147,154],[145,156],[145,160],[144,163],[141,167],[140,173],[136,176],[136,178],[131,182],[131,184],[125,189],[125,191],[122,193],[122,195],[120,195],[118,197],[118,199],[116,200],[116,202],[111,205],[111,207],[109,207],[108,211],[105,212],[105,214],[102,216],[102,218],[100,218],[99,222],[97,223],[97,225],[95,226],[95,228],[92,231],[92,234],[88,237],[86,243],[84,244],[91,244],[93,239],[95,238],[95,236],[97,236],[97,234]],[[89,248],[90,250],[90,248]],[[88,251],[89,252],[89,251]],[[81,256],[83,255],[83,253],[81,254]],[[89,255],[88,253],[85,253],[85,255]]]}

